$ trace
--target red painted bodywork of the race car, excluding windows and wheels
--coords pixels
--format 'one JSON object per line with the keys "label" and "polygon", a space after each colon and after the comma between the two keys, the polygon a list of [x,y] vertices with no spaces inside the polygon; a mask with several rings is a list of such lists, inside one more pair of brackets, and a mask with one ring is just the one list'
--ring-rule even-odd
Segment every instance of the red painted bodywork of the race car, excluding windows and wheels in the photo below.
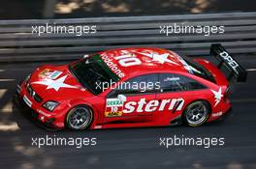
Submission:
{"label": "red painted bodywork of the race car, excluding windows and wheels", "polygon": [[[123,73],[119,75],[120,81],[126,81],[131,77],[146,73],[167,72],[177,73],[195,79],[207,86],[207,89],[173,93],[144,94],[126,97],[126,101],[121,107],[119,107],[121,115],[116,117],[106,117],[105,112],[108,111],[106,108],[107,95],[112,91],[111,88],[97,96],[93,95],[86,88],[82,87],[77,78],[73,76],[69,70],[69,65],[46,65],[32,72],[30,78],[21,83],[19,99],[23,99],[25,96],[26,99],[30,101],[30,106],[33,111],[39,114],[39,121],[42,121],[43,123],[51,121],[51,125],[53,127],[59,128],[65,127],[66,115],[69,110],[80,104],[88,105],[93,111],[93,124],[90,126],[90,128],[170,126],[172,120],[181,116],[182,111],[187,104],[198,99],[207,100],[210,105],[211,114],[208,118],[208,122],[218,119],[231,107],[229,99],[227,99],[225,94],[228,88],[228,81],[226,77],[220,70],[217,69],[217,67],[209,63],[207,60],[194,59],[195,62],[199,63],[210,71],[216,83],[191,74],[185,69],[181,62],[182,59],[175,52],[166,49],[151,47],[125,48],[108,50],[99,54],[102,58],[104,58],[103,60],[105,62],[111,60],[112,64],[114,64],[116,68]],[[161,60],[161,58],[159,59],[152,57],[153,54],[165,58],[164,61]],[[128,66],[126,65],[124,67],[123,63],[120,63],[120,58],[122,57],[119,56],[125,55],[131,55],[132,57],[139,59],[140,62],[137,63],[138,65],[129,66],[128,64]],[[116,59],[116,57],[119,58]],[[167,60],[171,62],[167,62]],[[53,74],[53,72],[55,74]],[[60,87],[57,89],[38,83],[48,78],[55,81],[62,78],[62,80],[64,79],[62,82],[68,85],[68,87]],[[28,94],[27,85],[30,85],[33,91],[43,99],[40,103]],[[219,92],[221,99],[216,100],[212,91]],[[176,110],[176,112],[171,113],[168,107],[171,106],[170,104],[174,99],[180,98],[184,99],[182,107]],[[163,99],[171,99],[171,102],[161,103],[161,100]],[[59,102],[59,105],[57,105],[52,112],[48,111],[42,106],[43,103],[48,100]],[[140,100],[145,100],[145,102],[138,107]],[[150,106],[147,105],[150,100],[157,101]],[[126,107],[125,105],[131,101],[136,102],[136,104],[132,104],[134,111],[131,113],[122,113]],[[146,106],[154,111],[138,112],[139,109],[144,110]]]}

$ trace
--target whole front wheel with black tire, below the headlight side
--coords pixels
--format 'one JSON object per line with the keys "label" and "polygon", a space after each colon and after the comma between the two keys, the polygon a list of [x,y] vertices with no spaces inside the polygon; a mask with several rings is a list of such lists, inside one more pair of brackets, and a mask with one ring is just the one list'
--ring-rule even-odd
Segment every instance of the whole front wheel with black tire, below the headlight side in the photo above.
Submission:
{"label": "whole front wheel with black tire, below the headlight side", "polygon": [[93,122],[93,112],[86,105],[72,108],[66,116],[66,125],[72,130],[89,128]]}

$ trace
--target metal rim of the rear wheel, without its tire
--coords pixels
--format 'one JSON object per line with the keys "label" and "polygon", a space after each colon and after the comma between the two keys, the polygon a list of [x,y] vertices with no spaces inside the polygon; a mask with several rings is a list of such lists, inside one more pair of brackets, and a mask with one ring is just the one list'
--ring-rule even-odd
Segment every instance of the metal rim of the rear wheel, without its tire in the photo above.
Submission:
{"label": "metal rim of the rear wheel, without its tire", "polygon": [[203,102],[193,104],[188,108],[186,120],[191,125],[200,125],[208,118],[208,107]]}

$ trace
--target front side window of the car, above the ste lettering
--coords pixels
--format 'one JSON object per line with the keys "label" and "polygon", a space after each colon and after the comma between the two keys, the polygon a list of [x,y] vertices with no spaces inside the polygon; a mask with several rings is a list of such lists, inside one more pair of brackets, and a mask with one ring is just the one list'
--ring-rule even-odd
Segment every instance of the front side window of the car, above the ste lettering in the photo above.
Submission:
{"label": "front side window of the car, above the ste lettering", "polygon": [[160,88],[158,74],[145,74],[133,77],[125,82],[120,83],[113,89],[108,98],[115,98],[117,95],[136,95],[154,93],[156,86]]}

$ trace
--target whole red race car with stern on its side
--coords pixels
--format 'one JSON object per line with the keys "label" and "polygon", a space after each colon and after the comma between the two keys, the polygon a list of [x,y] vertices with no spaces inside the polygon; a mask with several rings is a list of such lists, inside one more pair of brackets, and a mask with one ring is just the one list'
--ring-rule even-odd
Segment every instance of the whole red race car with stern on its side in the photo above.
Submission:
{"label": "whole red race car with stern on its side", "polygon": [[38,68],[17,86],[16,98],[49,127],[197,127],[228,114],[229,81],[246,80],[221,44],[212,44],[210,55],[217,67],[161,48],[107,50]]}

